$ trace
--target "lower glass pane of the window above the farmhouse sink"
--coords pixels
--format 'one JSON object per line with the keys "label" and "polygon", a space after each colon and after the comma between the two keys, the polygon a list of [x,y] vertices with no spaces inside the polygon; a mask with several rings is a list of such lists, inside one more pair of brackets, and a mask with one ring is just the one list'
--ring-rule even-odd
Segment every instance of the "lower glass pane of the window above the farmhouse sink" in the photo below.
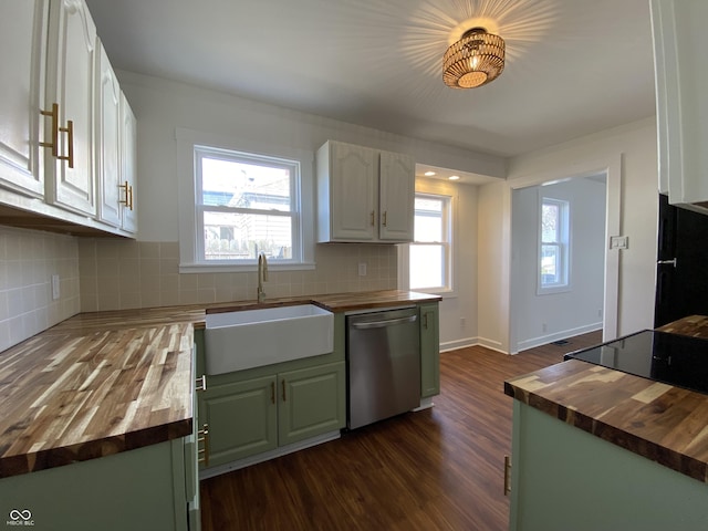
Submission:
{"label": "lower glass pane of the window above the farmhouse sink", "polygon": [[292,221],[289,216],[204,212],[206,260],[291,259]]}

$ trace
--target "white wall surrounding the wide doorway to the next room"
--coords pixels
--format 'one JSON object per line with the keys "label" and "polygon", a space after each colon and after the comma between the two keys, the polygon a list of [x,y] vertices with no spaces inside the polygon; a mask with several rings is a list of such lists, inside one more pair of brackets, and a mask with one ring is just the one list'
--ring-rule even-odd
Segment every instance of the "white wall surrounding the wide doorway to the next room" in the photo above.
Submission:
{"label": "white wall surrounding the wide doorway to the next room", "polygon": [[[508,181],[479,191],[479,336],[482,344],[509,352],[511,189],[614,165],[621,159],[620,231],[629,248],[620,256],[617,334],[652,327],[657,236],[657,152],[655,118],[571,140],[509,162]],[[611,195],[613,192],[611,191]],[[610,197],[610,204],[615,198]],[[482,252],[483,250],[483,252]]]}

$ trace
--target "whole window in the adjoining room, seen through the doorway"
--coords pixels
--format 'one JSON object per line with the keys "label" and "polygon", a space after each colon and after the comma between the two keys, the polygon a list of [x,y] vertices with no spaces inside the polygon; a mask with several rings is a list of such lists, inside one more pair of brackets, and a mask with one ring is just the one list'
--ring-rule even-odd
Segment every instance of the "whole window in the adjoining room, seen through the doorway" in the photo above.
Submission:
{"label": "whole window in the adjoining room, seen through the doorway", "polygon": [[539,242],[539,292],[569,287],[569,202],[548,197],[541,200]]}

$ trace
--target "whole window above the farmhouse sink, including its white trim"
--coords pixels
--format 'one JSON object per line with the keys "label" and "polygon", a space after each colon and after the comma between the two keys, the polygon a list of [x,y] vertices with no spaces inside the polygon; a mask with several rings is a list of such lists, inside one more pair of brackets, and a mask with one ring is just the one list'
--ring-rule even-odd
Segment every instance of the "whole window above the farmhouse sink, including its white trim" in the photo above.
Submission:
{"label": "whole window above the farmhouse sink, including its white trim", "polygon": [[180,272],[314,268],[312,152],[176,133]]}

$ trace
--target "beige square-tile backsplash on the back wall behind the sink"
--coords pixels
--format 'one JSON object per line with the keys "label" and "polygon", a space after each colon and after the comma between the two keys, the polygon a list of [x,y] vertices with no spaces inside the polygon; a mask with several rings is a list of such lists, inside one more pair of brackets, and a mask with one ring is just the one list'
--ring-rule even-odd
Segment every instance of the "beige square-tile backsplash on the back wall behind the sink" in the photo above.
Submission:
{"label": "beige square-tile backsplash on the back wall behind the sink", "polygon": [[[256,272],[179,273],[179,244],[82,238],[81,309],[84,312],[256,300]],[[326,244],[315,249],[316,269],[272,271],[268,298],[395,289],[395,246]],[[358,263],[367,263],[366,277]]]}

